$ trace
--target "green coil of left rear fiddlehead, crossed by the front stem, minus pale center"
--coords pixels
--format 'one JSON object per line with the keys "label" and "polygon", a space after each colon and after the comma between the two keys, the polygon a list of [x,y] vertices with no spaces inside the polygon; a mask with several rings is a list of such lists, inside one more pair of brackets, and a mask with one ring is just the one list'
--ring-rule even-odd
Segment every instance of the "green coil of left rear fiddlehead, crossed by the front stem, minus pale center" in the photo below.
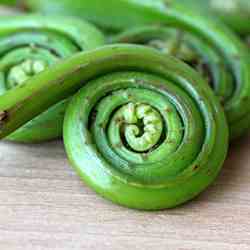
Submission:
{"label": "green coil of left rear fiddlehead, crossed by the front stem, minus pale center", "polygon": [[[9,90],[6,74],[13,65],[33,58],[45,60],[51,66],[79,51],[94,49],[104,43],[103,35],[95,27],[75,18],[1,17],[0,94]],[[51,107],[15,131],[8,140],[42,142],[61,137],[65,107],[66,101]]]}

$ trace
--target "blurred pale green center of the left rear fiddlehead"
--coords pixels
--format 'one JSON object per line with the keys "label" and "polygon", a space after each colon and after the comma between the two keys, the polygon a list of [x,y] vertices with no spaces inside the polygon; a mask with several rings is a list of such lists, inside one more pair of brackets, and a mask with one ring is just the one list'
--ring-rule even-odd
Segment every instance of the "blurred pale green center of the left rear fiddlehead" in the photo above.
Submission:
{"label": "blurred pale green center of the left rear fiddlehead", "polygon": [[44,71],[46,68],[47,63],[42,60],[27,59],[10,69],[7,77],[7,87],[11,89],[21,85],[32,76]]}

